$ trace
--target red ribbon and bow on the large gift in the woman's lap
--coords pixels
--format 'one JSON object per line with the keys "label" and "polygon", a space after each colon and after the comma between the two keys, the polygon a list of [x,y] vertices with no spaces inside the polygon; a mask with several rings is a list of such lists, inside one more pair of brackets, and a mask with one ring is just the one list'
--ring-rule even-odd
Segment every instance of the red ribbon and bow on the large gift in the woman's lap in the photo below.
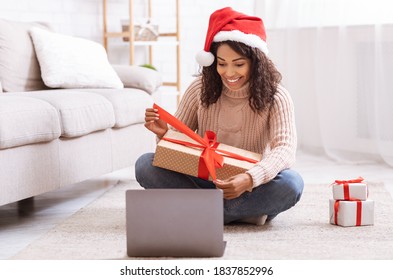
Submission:
{"label": "red ribbon and bow on the large gift in the woman's lap", "polygon": [[198,177],[202,179],[208,179],[209,174],[215,180],[216,176],[216,168],[221,168],[224,165],[224,158],[223,156],[232,157],[239,160],[245,160],[251,163],[257,163],[257,160],[250,159],[247,157],[243,157],[241,155],[237,155],[228,151],[217,149],[219,143],[216,141],[217,137],[213,131],[206,131],[204,137],[202,138],[194,131],[192,131],[188,126],[184,123],[176,119],[170,113],[165,111],[163,108],[158,106],[157,104],[153,104],[153,108],[158,110],[158,114],[160,119],[167,122],[171,126],[173,126],[178,131],[184,133],[198,144],[177,140],[177,139],[170,139],[170,138],[162,138],[164,140],[181,144],[187,147],[199,148],[202,149],[201,156],[199,158],[199,166],[198,166]]}

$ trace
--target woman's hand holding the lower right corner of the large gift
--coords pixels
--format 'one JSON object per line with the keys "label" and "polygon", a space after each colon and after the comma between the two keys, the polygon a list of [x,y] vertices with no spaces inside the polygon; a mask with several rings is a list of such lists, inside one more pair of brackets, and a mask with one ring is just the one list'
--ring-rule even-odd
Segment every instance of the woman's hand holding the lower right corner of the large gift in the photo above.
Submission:
{"label": "woman's hand holding the lower right corner of the large gift", "polygon": [[215,180],[213,183],[223,190],[225,199],[237,198],[245,191],[251,191],[253,185],[248,173],[238,174],[226,180]]}

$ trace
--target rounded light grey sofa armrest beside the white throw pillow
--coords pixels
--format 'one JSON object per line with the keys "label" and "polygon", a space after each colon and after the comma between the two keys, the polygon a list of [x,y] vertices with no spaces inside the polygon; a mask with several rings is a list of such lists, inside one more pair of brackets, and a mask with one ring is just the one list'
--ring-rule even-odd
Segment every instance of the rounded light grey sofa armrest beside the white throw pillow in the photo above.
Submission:
{"label": "rounded light grey sofa armrest beside the white throw pillow", "polygon": [[112,67],[126,88],[139,88],[151,94],[162,85],[161,74],[155,70],[135,65]]}

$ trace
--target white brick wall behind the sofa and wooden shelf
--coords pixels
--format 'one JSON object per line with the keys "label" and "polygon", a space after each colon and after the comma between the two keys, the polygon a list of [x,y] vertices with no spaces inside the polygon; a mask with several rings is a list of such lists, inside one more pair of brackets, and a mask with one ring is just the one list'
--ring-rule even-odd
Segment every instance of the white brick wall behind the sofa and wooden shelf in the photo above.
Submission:
{"label": "white brick wall behind the sofa and wooden shelf", "polygon": [[[254,14],[255,0],[180,0],[181,13],[181,76],[182,91],[191,82],[198,70],[195,54],[203,48],[210,14],[219,8],[231,6],[243,13]],[[0,0],[0,18],[18,21],[44,21],[54,30],[67,35],[91,39],[102,43],[102,0]],[[174,26],[175,1],[152,0],[153,13],[160,14],[156,21],[160,28]],[[146,15],[147,0],[134,0],[135,17]],[[127,0],[108,0],[108,25],[110,31],[120,31],[122,19],[128,17]],[[155,51],[155,66],[167,80],[175,77],[175,52],[165,47]],[[112,63],[129,61],[128,45],[121,39],[111,39],[109,59]],[[137,63],[145,59],[145,52],[137,50]]]}

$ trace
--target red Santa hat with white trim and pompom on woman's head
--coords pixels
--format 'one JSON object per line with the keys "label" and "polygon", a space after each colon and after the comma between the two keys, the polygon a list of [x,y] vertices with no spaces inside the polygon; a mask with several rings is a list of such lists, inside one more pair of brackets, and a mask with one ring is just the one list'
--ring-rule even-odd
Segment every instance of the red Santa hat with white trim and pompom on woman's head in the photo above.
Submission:
{"label": "red Santa hat with white trim and pompom on woman's head", "polygon": [[211,14],[205,47],[196,55],[199,65],[212,65],[214,55],[210,52],[210,46],[212,42],[223,41],[241,42],[268,54],[266,31],[262,19],[239,13],[230,7]]}

